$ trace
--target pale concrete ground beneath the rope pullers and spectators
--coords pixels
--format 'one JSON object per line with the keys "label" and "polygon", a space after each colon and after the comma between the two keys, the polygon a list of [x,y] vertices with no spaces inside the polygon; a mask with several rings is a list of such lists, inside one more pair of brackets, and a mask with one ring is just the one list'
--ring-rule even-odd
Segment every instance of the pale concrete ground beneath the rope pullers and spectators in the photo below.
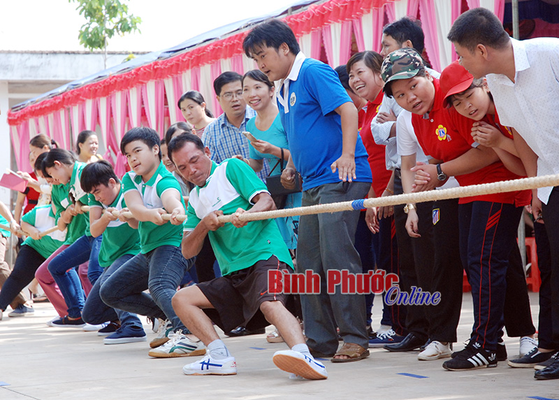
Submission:
{"label": "pale concrete ground beneath the rope pullers and spectators", "polygon": [[[530,294],[537,321],[537,294]],[[375,299],[374,327],[381,299]],[[50,303],[36,303],[31,317],[0,321],[0,399],[559,399],[559,380],[537,381],[533,369],[497,368],[451,372],[442,361],[419,362],[418,352],[371,349],[368,359],[347,364],[325,361],[328,380],[290,380],[272,362],[284,343],[264,335],[227,338],[235,355],[236,376],[184,376],[182,366],[195,359],[152,359],[147,343],[103,345],[96,332],[48,327],[55,316]],[[472,301],[464,294],[458,339],[472,327]],[[148,341],[154,334],[145,324]],[[268,327],[271,331],[272,327]],[[505,337],[509,357],[518,354],[518,338]],[[463,348],[462,343],[455,350]],[[197,359],[197,357],[196,357]]]}

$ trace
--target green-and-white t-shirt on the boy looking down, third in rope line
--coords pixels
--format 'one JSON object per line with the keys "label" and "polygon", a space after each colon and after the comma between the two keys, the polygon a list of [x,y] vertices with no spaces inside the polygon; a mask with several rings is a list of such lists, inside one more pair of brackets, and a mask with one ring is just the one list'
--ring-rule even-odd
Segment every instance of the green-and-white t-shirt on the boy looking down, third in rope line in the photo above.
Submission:
{"label": "green-and-white t-shirt on the boy looking down, third in rope line", "polygon": [[[109,206],[96,201],[94,195],[89,194],[89,207],[101,207],[103,210],[109,207],[116,208],[117,210],[126,208],[122,185],[120,185],[120,192],[117,198]],[[107,267],[125,254],[137,255],[138,252],[140,252],[138,229],[133,229],[126,222],[119,220],[109,222],[105,231],[103,231],[103,241],[101,241],[101,250],[99,251],[99,265]]]}

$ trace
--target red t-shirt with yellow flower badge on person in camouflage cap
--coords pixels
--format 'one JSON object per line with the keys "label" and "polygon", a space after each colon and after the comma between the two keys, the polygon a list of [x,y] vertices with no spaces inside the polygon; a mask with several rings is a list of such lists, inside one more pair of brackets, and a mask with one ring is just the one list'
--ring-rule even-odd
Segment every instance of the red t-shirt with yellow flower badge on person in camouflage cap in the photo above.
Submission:
{"label": "red t-shirt with yellow flower badge on person in camouflage cap", "polygon": [[[412,125],[423,151],[435,159],[448,162],[472,148],[474,139],[471,133],[475,121],[460,115],[454,108],[444,108],[439,80],[434,79],[433,85],[435,85],[433,109],[428,118],[412,114]],[[506,169],[499,161],[473,173],[456,176],[456,180],[460,186],[467,186],[510,180],[514,179],[514,176],[514,173]],[[460,204],[471,201],[514,203],[515,196],[514,192],[484,194],[483,196],[463,197],[458,202]]]}

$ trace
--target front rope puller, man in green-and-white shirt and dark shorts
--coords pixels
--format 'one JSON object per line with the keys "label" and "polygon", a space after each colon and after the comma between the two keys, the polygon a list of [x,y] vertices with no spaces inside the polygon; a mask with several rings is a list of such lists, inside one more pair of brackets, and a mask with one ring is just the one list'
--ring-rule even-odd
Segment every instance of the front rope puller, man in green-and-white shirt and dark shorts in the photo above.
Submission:
{"label": "front rope puller, man in green-and-white shirt and dark shorts", "polygon": [[[275,324],[291,350],[275,352],[279,369],[307,379],[326,379],[326,368],[310,355],[296,318],[285,308],[287,295],[268,290],[268,271],[290,273],[289,250],[274,220],[242,222],[243,213],[275,209],[266,185],[239,159],[215,164],[198,136],[182,134],[168,143],[177,170],[196,187],[190,192],[182,255],[194,257],[209,235],[223,276],[186,287],[173,297],[173,308],[208,355],[183,367],[187,375],[234,375],[235,358],[212,322],[224,331],[242,325],[259,329]],[[218,216],[233,214],[231,224]]]}

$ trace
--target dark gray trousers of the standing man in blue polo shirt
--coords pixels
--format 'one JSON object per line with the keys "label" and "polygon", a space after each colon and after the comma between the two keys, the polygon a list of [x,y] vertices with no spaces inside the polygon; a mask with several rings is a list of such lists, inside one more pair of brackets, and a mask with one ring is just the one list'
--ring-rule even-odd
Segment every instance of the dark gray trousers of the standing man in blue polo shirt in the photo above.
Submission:
{"label": "dark gray trousers of the standing man in blue polo shirt", "polygon": [[[303,206],[363,199],[370,183],[328,183],[303,192]],[[327,271],[347,269],[362,273],[354,247],[359,211],[303,215],[299,221],[297,272],[312,270],[321,277],[320,294],[301,294],[305,334],[310,348],[324,354],[337,351],[336,327],[345,343],[368,348],[365,296],[342,294],[338,285],[327,292]]]}

